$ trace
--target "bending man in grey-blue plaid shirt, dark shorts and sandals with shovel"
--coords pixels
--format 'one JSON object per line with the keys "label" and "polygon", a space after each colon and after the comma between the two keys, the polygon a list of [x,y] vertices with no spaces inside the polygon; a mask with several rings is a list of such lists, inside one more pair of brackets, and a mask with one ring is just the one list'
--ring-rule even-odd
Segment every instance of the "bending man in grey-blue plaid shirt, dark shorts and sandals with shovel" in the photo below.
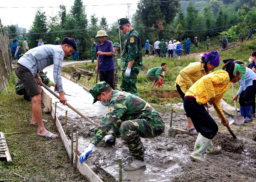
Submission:
{"label": "bending man in grey-blue plaid shirt, dark shorts and sandals with shovel", "polygon": [[42,79],[37,74],[37,71],[43,70],[45,67],[52,64],[54,65],[54,91],[59,91],[60,102],[64,105],[67,104],[61,82],[61,67],[64,57],[70,56],[76,49],[75,39],[66,37],[60,45],[46,44],[30,49],[17,62],[15,73],[24,83],[28,95],[32,97],[32,119],[30,124],[37,124],[37,134],[39,136],[51,139],[58,137],[58,135],[47,131],[42,122],[42,88],[39,85]]}

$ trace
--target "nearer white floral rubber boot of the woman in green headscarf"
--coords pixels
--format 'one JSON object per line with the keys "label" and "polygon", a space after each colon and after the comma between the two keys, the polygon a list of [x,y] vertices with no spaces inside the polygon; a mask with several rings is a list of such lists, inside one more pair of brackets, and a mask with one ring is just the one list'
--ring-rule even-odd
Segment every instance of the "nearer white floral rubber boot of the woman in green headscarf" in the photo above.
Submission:
{"label": "nearer white floral rubber boot of the woman in green headscarf", "polygon": [[212,140],[207,139],[198,133],[197,140],[194,146],[194,152],[190,155],[190,159],[199,163],[202,163],[205,159],[203,154],[205,150],[209,147]]}

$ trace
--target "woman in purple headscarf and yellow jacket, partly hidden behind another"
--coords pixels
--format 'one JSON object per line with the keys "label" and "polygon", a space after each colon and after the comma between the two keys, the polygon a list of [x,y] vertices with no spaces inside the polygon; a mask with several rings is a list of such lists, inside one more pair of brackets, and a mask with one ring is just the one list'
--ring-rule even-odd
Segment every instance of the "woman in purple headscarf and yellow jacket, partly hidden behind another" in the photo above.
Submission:
{"label": "woman in purple headscarf and yellow jacket, partly hidden behind another", "polygon": [[[220,56],[217,51],[211,51],[209,54],[202,55],[201,62],[190,63],[187,67],[180,71],[176,78],[176,88],[184,101],[186,91],[204,75],[220,65]],[[187,115],[186,128],[191,135],[198,135],[189,115]]]}

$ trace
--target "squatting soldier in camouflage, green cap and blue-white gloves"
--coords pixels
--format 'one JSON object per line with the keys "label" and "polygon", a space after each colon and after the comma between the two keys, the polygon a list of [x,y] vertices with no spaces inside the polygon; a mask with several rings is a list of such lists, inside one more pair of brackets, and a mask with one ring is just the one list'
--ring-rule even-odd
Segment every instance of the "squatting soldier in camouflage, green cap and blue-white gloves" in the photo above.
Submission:
{"label": "squatting soldier in camouflage, green cap and blue-white gloves", "polygon": [[[105,138],[105,142],[115,142],[116,137],[126,141],[133,162],[124,167],[126,171],[135,171],[146,167],[142,138],[154,138],[162,134],[163,119],[160,114],[141,98],[125,91],[113,90],[105,81],[94,85],[90,90],[93,103],[100,101],[108,107],[108,113],[95,129],[95,137],[80,155],[80,162],[87,159],[93,148]],[[113,133],[107,135],[112,129]],[[105,136],[105,137],[104,137]]]}

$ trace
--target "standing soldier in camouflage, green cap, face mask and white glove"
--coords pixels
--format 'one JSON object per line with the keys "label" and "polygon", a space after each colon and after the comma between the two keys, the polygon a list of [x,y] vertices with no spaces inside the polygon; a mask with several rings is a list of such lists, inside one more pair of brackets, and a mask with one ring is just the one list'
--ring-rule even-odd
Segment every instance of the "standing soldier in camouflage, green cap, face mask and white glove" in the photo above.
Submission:
{"label": "standing soldier in camouflage, green cap, face mask and white glove", "polygon": [[137,75],[142,67],[142,49],[138,32],[131,26],[128,18],[118,20],[118,27],[126,36],[121,55],[121,90],[139,96]]}

